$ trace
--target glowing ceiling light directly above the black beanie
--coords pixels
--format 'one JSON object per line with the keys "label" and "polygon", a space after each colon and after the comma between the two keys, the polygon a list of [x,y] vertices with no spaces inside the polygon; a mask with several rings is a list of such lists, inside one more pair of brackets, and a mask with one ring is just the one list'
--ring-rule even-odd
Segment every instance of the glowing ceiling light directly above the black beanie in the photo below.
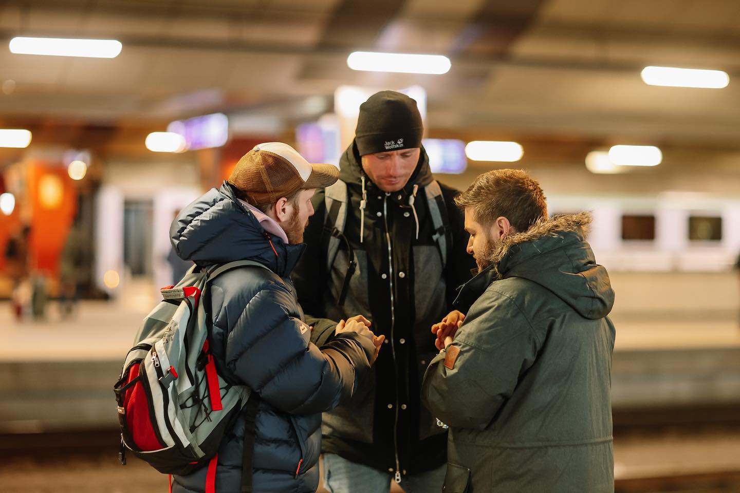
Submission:
{"label": "glowing ceiling light directly above the black beanie", "polygon": [[347,66],[368,72],[402,72],[407,74],[445,74],[452,64],[443,55],[378,53],[356,51],[347,57]]}

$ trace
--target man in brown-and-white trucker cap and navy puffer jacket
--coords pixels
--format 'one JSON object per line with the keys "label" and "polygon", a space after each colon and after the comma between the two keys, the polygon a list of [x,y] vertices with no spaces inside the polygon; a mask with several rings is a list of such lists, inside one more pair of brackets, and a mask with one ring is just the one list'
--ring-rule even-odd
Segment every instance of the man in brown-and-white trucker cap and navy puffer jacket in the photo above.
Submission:
{"label": "man in brown-and-white trucker cap and navy puffer jacket", "polygon": [[[243,491],[243,475],[249,491],[314,492],[321,412],[357,390],[383,342],[355,316],[337,324],[332,341],[314,345],[290,279],[306,248],[314,190],[337,176],[334,166],[310,164],[287,144],[262,143],[244,154],[221,188],[172,222],[172,246],[182,259],[201,267],[249,259],[264,267],[223,273],[204,300],[219,373],[260,397],[255,431],[242,414],[223,436],[215,492]],[[213,478],[206,469],[175,475],[172,491],[205,492]]]}

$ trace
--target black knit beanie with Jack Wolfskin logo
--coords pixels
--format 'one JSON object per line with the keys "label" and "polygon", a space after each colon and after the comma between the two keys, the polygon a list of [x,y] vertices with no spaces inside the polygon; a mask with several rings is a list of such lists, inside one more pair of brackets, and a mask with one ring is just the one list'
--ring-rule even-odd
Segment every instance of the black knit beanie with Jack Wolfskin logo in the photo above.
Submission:
{"label": "black knit beanie with Jack Wolfskin logo", "polygon": [[424,124],[416,101],[395,91],[376,92],[360,105],[354,140],[360,156],[421,147]]}

